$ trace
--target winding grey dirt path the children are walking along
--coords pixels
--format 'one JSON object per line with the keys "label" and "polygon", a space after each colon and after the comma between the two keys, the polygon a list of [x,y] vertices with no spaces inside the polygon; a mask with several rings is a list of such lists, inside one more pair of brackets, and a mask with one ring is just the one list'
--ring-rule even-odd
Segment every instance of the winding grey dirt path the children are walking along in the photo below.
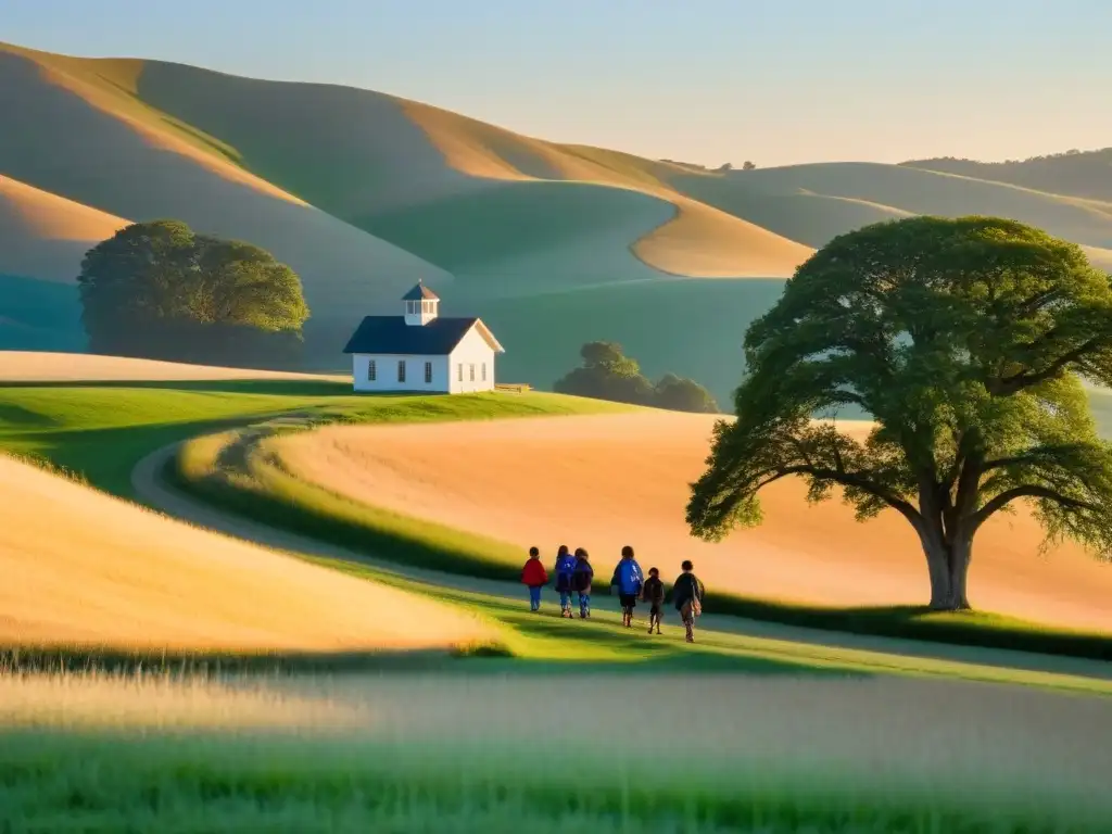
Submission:
{"label": "winding grey dirt path the children are walking along", "polygon": [[[488,594],[515,599],[523,598],[523,589],[515,583],[479,579],[458,574],[447,574],[439,570],[399,565],[386,559],[373,558],[361,553],[318,542],[306,536],[287,533],[252,522],[242,516],[216,509],[173,488],[161,476],[167,461],[177,451],[177,448],[178,445],[176,444],[151,453],[139,461],[131,474],[131,483],[139,499],[167,515],[219,530],[226,535],[254,542],[265,547],[302,555],[356,562],[410,582],[456,588],[476,594]],[[550,592],[547,599],[549,604],[553,604],[553,594]],[[524,604],[525,600],[523,598]],[[618,610],[617,600],[609,596],[593,597],[592,606],[602,610]],[[764,639],[803,643],[832,651],[858,649],[901,655],[903,657],[921,657],[1002,668],[1031,669],[1035,672],[1112,679],[1112,664],[1074,657],[827,632],[722,615],[706,615],[702,617],[699,619],[699,628],[709,632],[742,634]]]}

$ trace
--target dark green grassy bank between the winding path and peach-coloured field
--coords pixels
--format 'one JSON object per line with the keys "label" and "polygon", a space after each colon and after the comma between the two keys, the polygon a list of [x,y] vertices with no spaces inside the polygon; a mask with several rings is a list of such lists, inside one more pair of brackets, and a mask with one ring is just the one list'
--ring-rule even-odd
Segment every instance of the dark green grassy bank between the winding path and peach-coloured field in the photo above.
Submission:
{"label": "dark green grassy bank between the winding path and peach-coloured field", "polygon": [[[265,439],[239,440],[234,435],[193,440],[182,448],[168,475],[205,500],[356,553],[446,573],[516,580],[517,547],[351,500],[295,477]],[[231,463],[228,448],[238,448]],[[602,575],[609,567],[597,569]],[[598,592],[606,593],[606,588]],[[1112,659],[1112,637],[981,613],[932,615],[913,606],[828,608],[721,595],[708,602],[707,610],[857,634]]]}

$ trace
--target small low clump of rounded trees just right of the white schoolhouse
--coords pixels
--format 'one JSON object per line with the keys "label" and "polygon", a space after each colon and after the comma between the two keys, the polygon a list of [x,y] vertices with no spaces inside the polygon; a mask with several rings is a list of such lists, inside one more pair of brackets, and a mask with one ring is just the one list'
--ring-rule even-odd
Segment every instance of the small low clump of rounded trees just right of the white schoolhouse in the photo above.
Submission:
{"label": "small low clump of rounded trees just right of the white schoolhouse", "polygon": [[665,374],[653,383],[641,373],[635,359],[613,341],[588,341],[579,349],[583,365],[556,381],[558,394],[655,406],[674,411],[717,414],[718,404],[698,383]]}

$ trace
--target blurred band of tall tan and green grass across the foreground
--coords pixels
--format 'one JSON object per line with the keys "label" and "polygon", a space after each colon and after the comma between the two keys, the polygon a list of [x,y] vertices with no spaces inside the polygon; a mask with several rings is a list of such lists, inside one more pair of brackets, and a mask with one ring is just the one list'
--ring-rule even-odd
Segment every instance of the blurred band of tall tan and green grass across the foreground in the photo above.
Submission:
{"label": "blurred band of tall tan and green grass across the foreground", "polygon": [[0,830],[1095,834],[1110,709],[906,682],[9,676]]}

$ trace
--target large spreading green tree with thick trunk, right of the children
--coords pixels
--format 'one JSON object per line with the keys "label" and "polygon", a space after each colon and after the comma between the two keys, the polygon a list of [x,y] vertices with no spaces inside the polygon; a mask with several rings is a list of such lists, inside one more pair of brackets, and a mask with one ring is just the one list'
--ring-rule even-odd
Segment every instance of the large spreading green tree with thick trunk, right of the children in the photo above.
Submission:
{"label": "large spreading green tree with thick trunk, right of the children", "polygon": [[[973,537],[1026,502],[1046,542],[1112,552],[1112,446],[1082,378],[1112,384],[1112,287],[1075,245],[999,218],[916,217],[813,255],[745,337],[735,423],[693,485],[692,532],[761,522],[759,490],[798,476],[858,520],[914,527],[931,607],[969,607]],[[856,408],[858,443],[836,421]]]}

